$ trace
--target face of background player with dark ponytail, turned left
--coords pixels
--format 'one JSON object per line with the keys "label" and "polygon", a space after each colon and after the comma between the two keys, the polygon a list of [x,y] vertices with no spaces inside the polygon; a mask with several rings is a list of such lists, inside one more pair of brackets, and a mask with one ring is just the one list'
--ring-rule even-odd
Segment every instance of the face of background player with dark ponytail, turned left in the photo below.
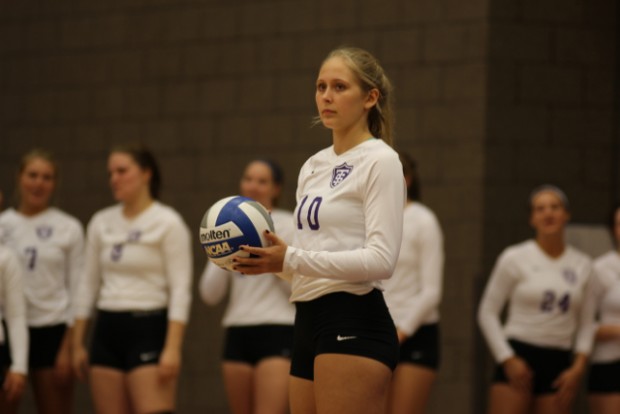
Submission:
{"label": "face of background player with dark ponytail, turned left", "polygon": [[134,200],[142,192],[148,192],[151,174],[143,170],[123,152],[114,152],[108,158],[108,174],[114,199],[120,202]]}

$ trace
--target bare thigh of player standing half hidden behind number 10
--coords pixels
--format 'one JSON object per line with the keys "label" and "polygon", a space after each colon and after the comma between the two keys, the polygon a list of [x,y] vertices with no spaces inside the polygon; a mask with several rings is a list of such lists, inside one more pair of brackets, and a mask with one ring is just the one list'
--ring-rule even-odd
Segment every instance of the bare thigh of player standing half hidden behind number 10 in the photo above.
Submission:
{"label": "bare thigh of player standing half hidden behind number 10", "polygon": [[388,400],[389,414],[422,414],[437,374],[414,364],[399,364],[394,371]]}

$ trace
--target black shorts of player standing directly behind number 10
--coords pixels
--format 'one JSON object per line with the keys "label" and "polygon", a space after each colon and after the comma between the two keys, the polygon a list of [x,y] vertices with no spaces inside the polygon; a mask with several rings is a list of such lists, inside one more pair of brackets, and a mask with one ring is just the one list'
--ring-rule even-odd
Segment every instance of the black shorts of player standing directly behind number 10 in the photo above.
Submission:
{"label": "black shorts of player standing directly behind number 10", "polygon": [[422,325],[400,345],[399,364],[421,365],[436,371],[439,368],[439,325]]}

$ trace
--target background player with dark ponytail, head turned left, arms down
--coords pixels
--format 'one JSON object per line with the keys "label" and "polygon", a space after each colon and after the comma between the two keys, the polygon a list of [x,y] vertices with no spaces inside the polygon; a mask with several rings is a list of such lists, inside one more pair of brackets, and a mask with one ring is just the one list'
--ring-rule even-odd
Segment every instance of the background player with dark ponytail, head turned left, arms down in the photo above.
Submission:
{"label": "background player with dark ponytail, head turned left, arms down", "polygon": [[[147,149],[113,149],[108,173],[119,204],[88,225],[74,369],[81,379],[88,372],[99,414],[171,413],[191,300],[190,233],[175,210],[157,201],[160,173]],[[95,305],[87,364],[84,336]]]}

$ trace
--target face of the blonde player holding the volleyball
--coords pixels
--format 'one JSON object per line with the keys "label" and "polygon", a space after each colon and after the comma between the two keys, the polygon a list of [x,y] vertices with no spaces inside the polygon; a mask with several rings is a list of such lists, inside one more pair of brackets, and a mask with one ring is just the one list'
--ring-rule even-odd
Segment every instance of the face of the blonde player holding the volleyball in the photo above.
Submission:
{"label": "face of the blonde player holding the volleyball", "polygon": [[362,90],[357,76],[340,57],[326,60],[316,81],[316,106],[326,128],[346,131],[367,124],[378,91]]}

